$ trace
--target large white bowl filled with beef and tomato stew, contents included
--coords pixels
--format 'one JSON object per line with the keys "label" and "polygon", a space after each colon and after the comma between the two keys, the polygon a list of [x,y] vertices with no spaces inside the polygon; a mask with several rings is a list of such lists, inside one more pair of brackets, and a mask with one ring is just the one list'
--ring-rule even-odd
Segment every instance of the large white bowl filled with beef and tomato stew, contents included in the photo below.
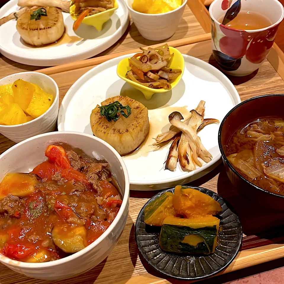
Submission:
{"label": "large white bowl filled with beef and tomato stew, contents included", "polygon": [[0,156],[0,262],[46,280],[79,275],[112,251],[129,209],[125,164],[76,132],[29,138]]}

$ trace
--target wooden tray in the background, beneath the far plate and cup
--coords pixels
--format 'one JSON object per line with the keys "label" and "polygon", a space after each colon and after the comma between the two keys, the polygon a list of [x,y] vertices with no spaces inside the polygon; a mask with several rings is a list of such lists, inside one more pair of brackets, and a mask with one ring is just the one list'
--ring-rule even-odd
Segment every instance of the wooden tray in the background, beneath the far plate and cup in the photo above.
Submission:
{"label": "wooden tray in the background, beneath the far plate and cup", "polygon": [[[200,18],[199,20],[197,20],[194,13],[191,11],[190,7],[193,7],[193,10],[195,11],[196,7],[198,7],[201,3],[199,1],[200,0],[188,1],[188,3],[190,2],[190,5],[185,6],[183,17],[179,23],[177,31],[171,38],[168,39],[168,41],[178,40],[181,38],[188,38],[188,37],[195,36],[195,35],[202,35],[210,31],[210,23],[208,24],[207,21],[202,22],[202,17],[200,17],[200,13],[197,13],[198,17]],[[198,5],[196,5],[195,3],[198,3]],[[204,5],[202,8],[204,9],[203,12],[208,13]],[[140,46],[149,46],[149,45],[159,43],[159,42],[161,43],[162,41],[149,41],[143,38],[131,20],[130,25],[128,26],[127,30],[122,35],[120,40],[117,41],[117,43],[115,43],[109,49],[97,55],[97,57],[106,55],[106,54],[113,54],[113,53],[117,53],[121,51],[127,51],[130,49],[139,48]],[[29,66],[25,64],[20,64],[20,63],[7,59],[1,54],[0,56],[1,56],[0,57],[0,66],[1,66],[0,77],[1,78],[4,76],[10,75],[10,74],[16,73],[16,72],[34,71],[34,70],[43,68],[43,67],[38,67],[38,66]]]}

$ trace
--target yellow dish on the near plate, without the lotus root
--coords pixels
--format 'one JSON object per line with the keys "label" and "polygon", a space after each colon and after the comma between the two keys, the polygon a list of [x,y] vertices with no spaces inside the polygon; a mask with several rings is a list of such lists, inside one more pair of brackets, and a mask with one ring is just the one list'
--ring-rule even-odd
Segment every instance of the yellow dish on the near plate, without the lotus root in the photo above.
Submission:
{"label": "yellow dish on the near plate, without the lotus root", "polygon": [[[178,82],[180,81],[182,75],[183,75],[183,71],[184,71],[184,58],[183,55],[180,53],[180,51],[178,51],[177,49],[175,49],[174,47],[169,47],[170,48],[170,54],[174,54],[174,57],[172,59],[170,68],[172,69],[181,69],[182,73],[178,76],[178,78],[175,79],[174,82],[171,83],[172,89],[178,85]],[[153,88],[149,88],[143,85],[140,85],[136,82],[133,82],[129,79],[127,79],[126,73],[128,71],[130,71],[130,65],[129,65],[129,58],[124,58],[122,59],[118,65],[117,65],[117,75],[124,81],[126,81],[127,83],[129,83],[130,85],[132,85],[135,89],[141,91],[143,93],[143,95],[145,96],[145,98],[147,100],[151,99],[151,97],[154,95],[154,93],[166,93],[170,90],[165,90],[165,89],[153,89]]]}

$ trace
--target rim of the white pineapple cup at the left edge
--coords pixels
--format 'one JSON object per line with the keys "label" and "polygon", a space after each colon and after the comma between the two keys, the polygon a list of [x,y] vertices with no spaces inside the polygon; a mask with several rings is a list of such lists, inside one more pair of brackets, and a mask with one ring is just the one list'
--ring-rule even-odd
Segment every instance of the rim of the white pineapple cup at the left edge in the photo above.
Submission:
{"label": "rim of the white pineapple cup at the left edge", "polygon": [[[49,75],[46,75],[44,73],[40,73],[40,72],[35,72],[35,71],[27,71],[27,72],[17,72],[17,73],[14,73],[14,74],[11,74],[11,75],[8,75],[8,76],[5,76],[4,78],[1,78],[1,80],[4,80],[4,79],[7,79],[7,78],[12,78],[12,77],[17,77],[17,75],[21,75],[21,74],[28,74],[28,73],[31,73],[31,74],[34,74],[35,77],[36,76],[43,76],[43,77],[46,77],[48,79],[51,80],[51,82],[54,84],[55,86],[55,89],[56,89],[56,93],[54,96],[54,100],[53,100],[53,103],[51,104],[51,106],[43,113],[41,114],[40,116],[34,118],[33,120],[30,120],[28,122],[24,122],[24,123],[20,123],[20,124],[15,124],[15,125],[0,125],[1,128],[16,128],[16,127],[19,127],[19,126],[22,126],[22,125],[29,125],[29,124],[32,124],[33,122],[37,121],[37,120],[40,120],[41,118],[43,118],[43,116],[45,116],[53,107],[55,104],[58,103],[58,100],[59,100],[59,88],[58,88],[58,85],[57,83],[54,81],[54,79],[52,79]],[[19,78],[20,79],[20,78]],[[18,79],[17,79],[18,80]],[[23,80],[23,79],[22,79]],[[14,83],[14,82],[13,82]],[[13,84],[12,83],[12,84]],[[30,83],[30,82],[29,82]],[[6,84],[8,85],[8,84]],[[2,86],[2,85],[1,85]],[[58,115],[58,114],[57,114]]]}

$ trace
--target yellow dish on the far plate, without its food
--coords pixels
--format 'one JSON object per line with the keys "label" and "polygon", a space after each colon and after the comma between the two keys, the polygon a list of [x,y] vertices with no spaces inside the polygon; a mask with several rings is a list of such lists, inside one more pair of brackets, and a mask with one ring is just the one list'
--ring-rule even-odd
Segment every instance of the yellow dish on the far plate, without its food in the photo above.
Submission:
{"label": "yellow dish on the far plate, without its food", "polygon": [[[85,17],[82,21],[83,24],[93,26],[96,30],[101,31],[103,28],[103,24],[107,22],[110,17],[113,15],[114,11],[118,8],[117,1],[114,0],[114,8],[108,9],[104,12],[100,12],[98,14],[94,14],[88,17]],[[72,20],[76,21],[77,16],[75,15],[75,5],[70,7],[70,16]]]}

